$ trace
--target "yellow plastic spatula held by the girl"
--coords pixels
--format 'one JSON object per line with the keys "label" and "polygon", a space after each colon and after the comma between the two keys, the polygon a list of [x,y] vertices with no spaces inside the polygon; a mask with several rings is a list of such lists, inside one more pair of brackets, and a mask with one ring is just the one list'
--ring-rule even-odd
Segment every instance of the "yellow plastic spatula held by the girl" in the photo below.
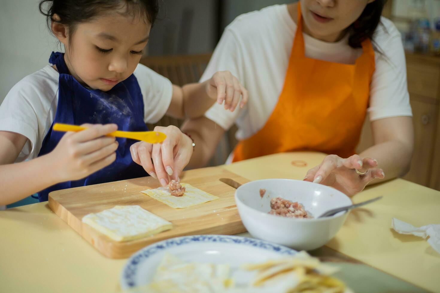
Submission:
{"label": "yellow plastic spatula held by the girl", "polygon": [[[62,123],[55,123],[53,130],[55,131],[81,131],[87,129],[86,127],[81,127],[77,125],[70,125],[70,124],[62,124]],[[166,135],[162,132],[157,131],[114,131],[107,134],[107,136],[114,136],[114,137],[125,137],[125,138],[131,138],[136,139],[138,141],[147,141],[151,144],[159,143],[165,140]]]}

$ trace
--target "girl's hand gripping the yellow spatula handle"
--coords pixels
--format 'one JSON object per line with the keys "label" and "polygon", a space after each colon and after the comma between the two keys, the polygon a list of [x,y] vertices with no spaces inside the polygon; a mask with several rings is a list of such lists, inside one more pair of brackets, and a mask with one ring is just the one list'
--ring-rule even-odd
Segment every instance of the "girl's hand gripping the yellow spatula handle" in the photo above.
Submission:
{"label": "girl's hand gripping the yellow spatula handle", "polygon": [[66,132],[48,154],[58,182],[78,180],[110,165],[116,159],[118,143],[106,134],[117,130],[116,124],[83,124],[86,130]]}

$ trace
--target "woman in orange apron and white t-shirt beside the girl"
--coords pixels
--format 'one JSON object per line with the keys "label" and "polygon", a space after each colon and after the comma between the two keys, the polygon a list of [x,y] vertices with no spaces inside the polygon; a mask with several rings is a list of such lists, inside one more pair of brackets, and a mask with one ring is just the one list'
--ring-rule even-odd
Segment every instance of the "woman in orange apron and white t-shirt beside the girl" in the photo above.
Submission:
{"label": "woman in orange apron and white t-shirt beside the girl", "polygon": [[[384,2],[300,0],[238,17],[201,81],[228,69],[249,91],[250,102],[244,109],[232,105],[231,112],[214,105],[183,126],[197,145],[190,165],[205,163],[235,121],[240,142],[234,161],[325,152],[331,155],[304,180],[348,195],[383,179],[384,172],[387,179],[404,174],[413,149],[412,114],[400,34],[381,18]],[[374,146],[356,155],[367,112]]]}

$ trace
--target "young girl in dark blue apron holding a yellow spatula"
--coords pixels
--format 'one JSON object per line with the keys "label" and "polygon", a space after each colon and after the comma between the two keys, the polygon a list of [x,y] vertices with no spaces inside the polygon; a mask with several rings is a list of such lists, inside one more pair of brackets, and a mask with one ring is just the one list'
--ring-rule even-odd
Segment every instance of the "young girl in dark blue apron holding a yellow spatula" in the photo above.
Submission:
{"label": "young girl in dark blue apron holding a yellow spatula", "polygon": [[[246,90],[229,72],[180,88],[138,64],[157,0],[44,0],[40,11],[46,5],[48,25],[66,53],[52,53],[52,66],[18,82],[0,106],[0,205],[35,192],[45,201],[53,190],[144,176],[137,150],[130,151],[135,141],[106,134],[146,131],[145,123],[165,114],[201,116],[215,100],[231,111],[241,95],[240,106],[246,104]],[[88,129],[64,134],[52,131],[54,123]],[[156,130],[167,139],[149,152],[156,167],[150,175],[165,186],[169,176],[179,178],[193,141],[177,127]]]}

